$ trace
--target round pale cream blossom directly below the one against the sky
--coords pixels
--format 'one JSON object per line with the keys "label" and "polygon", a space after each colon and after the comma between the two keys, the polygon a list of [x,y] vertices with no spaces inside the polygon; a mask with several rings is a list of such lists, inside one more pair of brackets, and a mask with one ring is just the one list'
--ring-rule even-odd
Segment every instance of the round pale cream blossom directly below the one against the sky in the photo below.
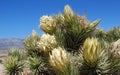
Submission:
{"label": "round pale cream blossom directly below the one against the sky", "polygon": [[43,34],[40,41],[38,42],[38,47],[44,52],[49,52],[56,48],[57,42],[53,35]]}

